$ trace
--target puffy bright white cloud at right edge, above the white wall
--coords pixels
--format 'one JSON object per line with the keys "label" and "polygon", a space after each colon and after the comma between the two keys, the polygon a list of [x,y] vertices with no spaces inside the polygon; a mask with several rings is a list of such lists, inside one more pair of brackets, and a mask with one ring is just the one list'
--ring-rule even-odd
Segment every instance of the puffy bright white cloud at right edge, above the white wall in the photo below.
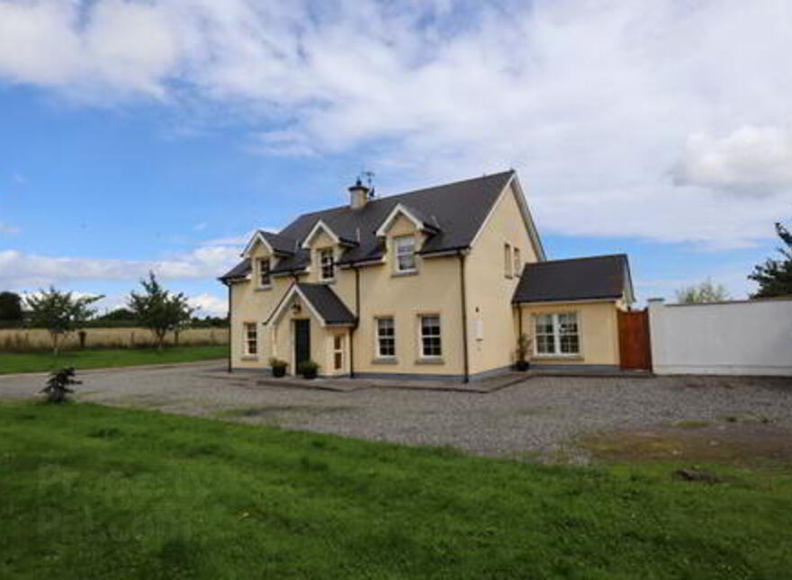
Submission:
{"label": "puffy bright white cloud at right edge, above the white wall", "polygon": [[685,153],[679,183],[752,196],[792,190],[792,126],[746,125],[724,138],[695,133]]}

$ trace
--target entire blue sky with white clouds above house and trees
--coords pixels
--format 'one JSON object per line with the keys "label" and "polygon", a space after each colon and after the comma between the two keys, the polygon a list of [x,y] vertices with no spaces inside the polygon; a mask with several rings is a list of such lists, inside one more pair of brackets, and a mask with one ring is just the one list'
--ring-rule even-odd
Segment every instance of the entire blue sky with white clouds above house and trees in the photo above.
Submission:
{"label": "entire blue sky with white clouds above house and trees", "polygon": [[786,2],[282,4],[0,0],[0,289],[153,269],[217,313],[253,228],[363,169],[515,167],[549,256],[626,252],[642,301],[744,297],[792,216]]}

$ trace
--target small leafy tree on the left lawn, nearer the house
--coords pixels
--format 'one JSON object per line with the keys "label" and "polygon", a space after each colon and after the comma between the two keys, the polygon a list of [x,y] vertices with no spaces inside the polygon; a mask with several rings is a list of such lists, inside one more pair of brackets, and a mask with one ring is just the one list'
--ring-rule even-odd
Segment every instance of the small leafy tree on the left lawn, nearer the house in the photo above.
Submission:
{"label": "small leafy tree on the left lawn, nearer the house", "polygon": [[157,350],[161,351],[165,335],[188,324],[195,308],[187,304],[184,293],[175,294],[165,290],[157,281],[154,272],[148,272],[148,280],[141,280],[140,284],[145,292],[130,292],[127,306],[140,325],[148,328],[155,336]]}

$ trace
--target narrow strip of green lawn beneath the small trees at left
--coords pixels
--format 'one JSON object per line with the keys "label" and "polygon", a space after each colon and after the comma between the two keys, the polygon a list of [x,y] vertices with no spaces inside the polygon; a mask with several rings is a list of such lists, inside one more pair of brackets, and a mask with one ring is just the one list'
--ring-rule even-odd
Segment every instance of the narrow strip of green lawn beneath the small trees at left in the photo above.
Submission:
{"label": "narrow strip of green lawn beneath the small trees at left", "polygon": [[40,372],[57,367],[76,367],[78,370],[105,367],[131,367],[139,364],[189,362],[221,359],[228,356],[227,345],[171,346],[162,352],[156,349],[96,349],[67,351],[59,357],[51,352],[0,352],[0,374],[10,372]]}

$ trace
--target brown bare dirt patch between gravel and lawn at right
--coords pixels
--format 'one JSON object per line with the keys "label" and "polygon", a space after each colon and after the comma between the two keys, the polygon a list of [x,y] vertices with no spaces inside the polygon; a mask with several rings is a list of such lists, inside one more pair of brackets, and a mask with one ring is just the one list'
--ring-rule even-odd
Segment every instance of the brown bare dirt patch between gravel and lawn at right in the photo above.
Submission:
{"label": "brown bare dirt patch between gravel and lawn at right", "polygon": [[792,461],[792,430],[770,424],[730,423],[619,430],[579,443],[602,460],[697,460],[748,464]]}

